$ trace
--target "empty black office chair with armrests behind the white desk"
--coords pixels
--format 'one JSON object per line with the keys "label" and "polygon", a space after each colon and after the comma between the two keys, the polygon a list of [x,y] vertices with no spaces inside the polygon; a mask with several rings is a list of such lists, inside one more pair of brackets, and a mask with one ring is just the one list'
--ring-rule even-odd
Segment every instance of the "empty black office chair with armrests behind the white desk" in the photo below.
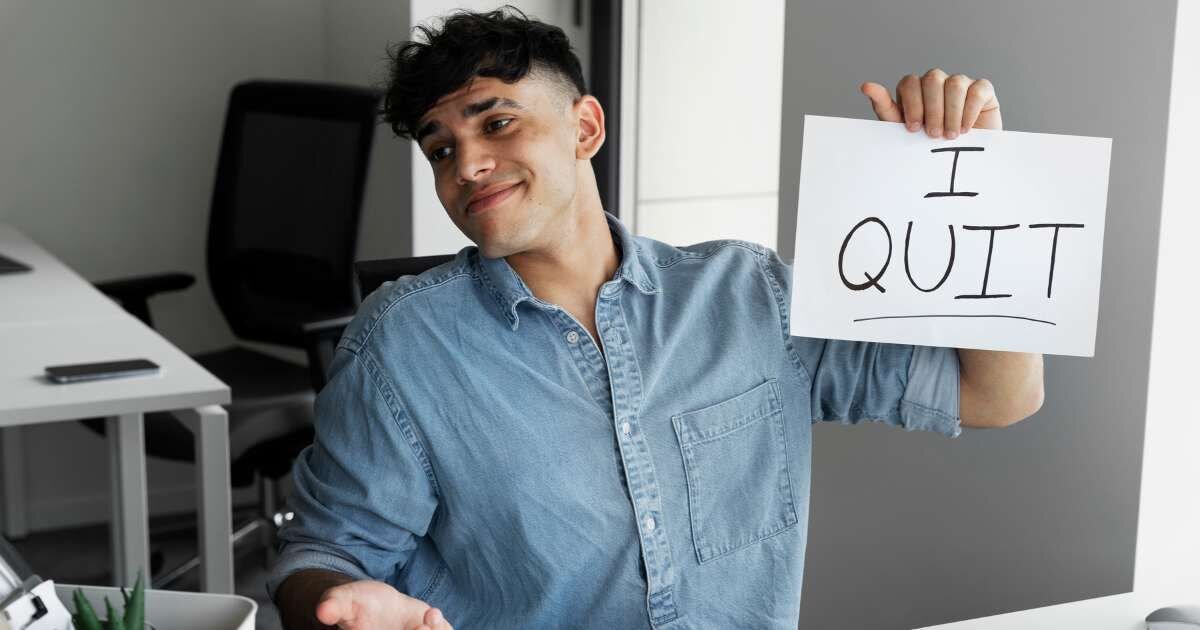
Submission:
{"label": "empty black office chair with armrests behind the white desk", "polygon": [[[354,312],[353,260],[378,94],[352,86],[253,80],[229,96],[209,217],[206,266],[212,295],[239,340],[302,348],[322,337],[305,324]],[[187,288],[187,274],[97,283],[128,312],[151,323],[151,296]],[[230,480],[260,480],[262,515],[234,542],[282,523],[277,482],[312,442],[313,366],[242,344],[193,356],[229,385]],[[146,452],[192,461],[192,434],[168,414],[148,414]],[[103,422],[85,421],[103,432]],[[269,551],[270,553],[270,551]],[[166,586],[194,568],[185,563],[154,580]]]}

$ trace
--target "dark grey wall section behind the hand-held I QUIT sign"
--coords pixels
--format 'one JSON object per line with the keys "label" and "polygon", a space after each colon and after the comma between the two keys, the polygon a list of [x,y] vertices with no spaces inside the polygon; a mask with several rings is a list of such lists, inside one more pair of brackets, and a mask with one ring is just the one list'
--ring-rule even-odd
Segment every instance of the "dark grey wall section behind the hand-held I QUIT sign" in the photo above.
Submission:
{"label": "dark grey wall section behind the hand-held I QUIT sign", "polygon": [[1111,137],[1096,356],[1046,356],[1024,422],[956,440],[821,426],[800,628],[916,628],[1133,584],[1175,2],[788,2],[779,235],[803,114],[874,119],[863,80],[988,77],[1009,130]]}

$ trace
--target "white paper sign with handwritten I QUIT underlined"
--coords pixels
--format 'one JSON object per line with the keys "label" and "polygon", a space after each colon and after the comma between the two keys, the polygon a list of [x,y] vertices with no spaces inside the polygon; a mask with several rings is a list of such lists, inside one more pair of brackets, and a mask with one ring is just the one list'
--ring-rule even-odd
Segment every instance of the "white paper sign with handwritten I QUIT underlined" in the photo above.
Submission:
{"label": "white paper sign with handwritten I QUIT underlined", "polygon": [[792,335],[1092,356],[1111,145],[804,116]]}

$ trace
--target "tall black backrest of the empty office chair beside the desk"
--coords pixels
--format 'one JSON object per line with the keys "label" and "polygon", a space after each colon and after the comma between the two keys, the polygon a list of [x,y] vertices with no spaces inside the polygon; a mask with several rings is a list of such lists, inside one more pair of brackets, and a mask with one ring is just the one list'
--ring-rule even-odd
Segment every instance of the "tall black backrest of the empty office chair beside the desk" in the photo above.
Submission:
{"label": "tall black backrest of the empty office chair beside the desk", "polygon": [[238,337],[304,347],[353,312],[353,260],[379,95],[253,80],[233,89],[209,217],[212,294]]}

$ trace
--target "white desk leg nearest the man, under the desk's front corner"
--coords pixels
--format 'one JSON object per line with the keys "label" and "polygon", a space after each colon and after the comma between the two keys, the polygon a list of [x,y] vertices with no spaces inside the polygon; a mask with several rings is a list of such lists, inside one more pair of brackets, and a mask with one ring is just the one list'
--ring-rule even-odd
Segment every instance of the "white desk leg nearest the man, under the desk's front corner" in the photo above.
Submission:
{"label": "white desk leg nearest the man, under the desk's front corner", "polygon": [[229,416],[220,404],[175,415],[196,436],[200,518],[200,590],[233,593],[233,505],[229,490]]}

